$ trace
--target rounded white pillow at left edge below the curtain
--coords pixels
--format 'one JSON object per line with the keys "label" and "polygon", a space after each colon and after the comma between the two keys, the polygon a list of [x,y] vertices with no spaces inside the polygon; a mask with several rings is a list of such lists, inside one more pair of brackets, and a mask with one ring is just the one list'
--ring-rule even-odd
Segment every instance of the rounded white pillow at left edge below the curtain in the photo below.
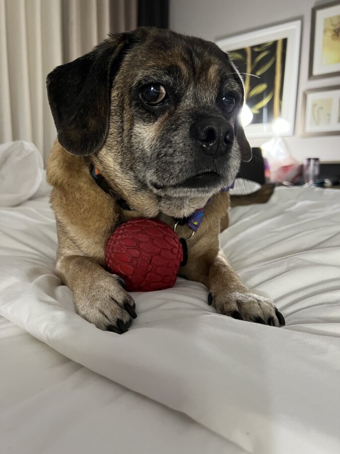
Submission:
{"label": "rounded white pillow at left edge below the curtain", "polygon": [[43,175],[42,156],[31,142],[0,145],[0,206],[14,206],[29,199]]}

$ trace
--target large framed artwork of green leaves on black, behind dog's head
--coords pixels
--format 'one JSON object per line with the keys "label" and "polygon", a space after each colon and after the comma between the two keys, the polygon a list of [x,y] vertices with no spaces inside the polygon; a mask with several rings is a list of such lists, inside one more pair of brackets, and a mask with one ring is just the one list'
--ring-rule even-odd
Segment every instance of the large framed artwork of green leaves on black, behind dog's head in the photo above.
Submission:
{"label": "large framed artwork of green leaves on black, behind dog's head", "polygon": [[299,75],[301,21],[287,22],[218,40],[241,73],[245,97],[253,113],[247,137],[270,137],[276,118],[294,134]]}

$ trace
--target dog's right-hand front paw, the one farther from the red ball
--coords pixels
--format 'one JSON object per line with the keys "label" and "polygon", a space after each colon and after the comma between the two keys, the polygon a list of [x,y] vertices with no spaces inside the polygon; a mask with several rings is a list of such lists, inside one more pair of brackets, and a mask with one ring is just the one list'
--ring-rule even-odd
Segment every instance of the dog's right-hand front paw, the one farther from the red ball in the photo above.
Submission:
{"label": "dog's right-hand front paw, the one farther from the red ball", "polygon": [[271,326],[283,326],[284,316],[268,298],[248,292],[211,291],[208,303],[212,304],[218,314],[229,315],[239,320],[252,321]]}

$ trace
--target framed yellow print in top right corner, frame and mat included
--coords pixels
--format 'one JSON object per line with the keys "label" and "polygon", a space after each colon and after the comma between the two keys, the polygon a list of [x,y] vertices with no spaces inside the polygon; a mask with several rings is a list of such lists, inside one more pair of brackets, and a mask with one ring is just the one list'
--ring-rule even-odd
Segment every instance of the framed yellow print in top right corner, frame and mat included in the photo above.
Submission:
{"label": "framed yellow print in top right corner, frame and mat included", "polygon": [[309,78],[340,75],[340,2],[312,9]]}

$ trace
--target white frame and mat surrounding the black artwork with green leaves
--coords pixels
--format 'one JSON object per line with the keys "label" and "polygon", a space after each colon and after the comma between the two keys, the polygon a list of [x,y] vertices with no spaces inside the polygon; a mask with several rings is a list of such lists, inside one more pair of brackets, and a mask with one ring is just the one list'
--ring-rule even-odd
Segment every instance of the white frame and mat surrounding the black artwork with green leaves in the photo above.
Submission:
{"label": "white frame and mat surrounding the black artwork with green leaves", "polygon": [[[286,41],[284,75],[282,77],[282,102],[280,102],[279,117],[286,120],[289,128],[282,135],[291,136],[295,130],[296,100],[299,78],[301,20],[286,22],[279,25],[261,28],[258,30],[229,36],[216,41],[216,44],[225,52],[237,49],[255,48],[263,43]],[[236,61],[234,61],[237,67]],[[247,102],[247,100],[246,100]],[[249,101],[248,101],[249,102]],[[250,103],[247,104],[249,105]],[[249,105],[251,108],[251,105]],[[274,119],[262,123],[250,123],[245,132],[248,138],[270,137],[273,135],[271,124]]]}

